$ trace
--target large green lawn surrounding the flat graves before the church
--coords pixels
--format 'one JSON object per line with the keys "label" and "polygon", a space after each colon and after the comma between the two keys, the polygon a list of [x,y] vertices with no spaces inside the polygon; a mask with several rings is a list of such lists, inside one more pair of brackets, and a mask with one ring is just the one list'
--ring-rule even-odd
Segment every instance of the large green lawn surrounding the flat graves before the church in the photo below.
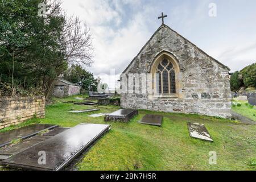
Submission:
{"label": "large green lawn surrounding the flat graves before the church", "polygon": [[[55,100],[55,104],[47,106],[45,119],[32,119],[27,123],[49,123],[62,127],[73,127],[79,123],[105,123],[103,117],[90,118],[89,113],[68,113],[71,108],[93,107],[63,103],[68,100],[73,99]],[[110,113],[119,109],[114,106],[98,108],[101,110],[90,114]],[[146,113],[164,115],[163,126],[137,123]],[[187,122],[204,123],[214,143],[189,137]],[[256,125],[242,125],[227,119],[200,115],[146,110],[139,110],[139,115],[129,123],[110,124],[112,130],[84,154],[77,169],[256,170]],[[217,165],[208,163],[210,151],[217,152]]]}

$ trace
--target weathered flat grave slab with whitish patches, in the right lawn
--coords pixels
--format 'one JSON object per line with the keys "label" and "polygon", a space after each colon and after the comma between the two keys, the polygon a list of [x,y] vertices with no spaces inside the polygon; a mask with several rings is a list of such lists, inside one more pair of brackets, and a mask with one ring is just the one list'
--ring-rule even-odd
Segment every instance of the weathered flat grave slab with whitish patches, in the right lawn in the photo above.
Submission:
{"label": "weathered flat grave slab with whitish patches, in the right lawn", "polygon": [[213,142],[213,139],[210,138],[210,134],[204,124],[200,123],[188,123],[189,135],[192,138],[197,138],[201,140],[207,140]]}

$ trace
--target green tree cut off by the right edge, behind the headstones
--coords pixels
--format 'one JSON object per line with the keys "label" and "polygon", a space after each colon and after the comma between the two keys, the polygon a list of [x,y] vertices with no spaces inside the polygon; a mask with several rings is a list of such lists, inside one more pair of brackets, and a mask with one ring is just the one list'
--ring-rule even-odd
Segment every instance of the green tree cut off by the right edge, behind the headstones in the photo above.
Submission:
{"label": "green tree cut off by the right edge, behind the headstones", "polygon": [[256,88],[256,63],[243,68],[240,71],[240,74],[243,77],[243,83],[245,84],[246,88],[249,86]]}

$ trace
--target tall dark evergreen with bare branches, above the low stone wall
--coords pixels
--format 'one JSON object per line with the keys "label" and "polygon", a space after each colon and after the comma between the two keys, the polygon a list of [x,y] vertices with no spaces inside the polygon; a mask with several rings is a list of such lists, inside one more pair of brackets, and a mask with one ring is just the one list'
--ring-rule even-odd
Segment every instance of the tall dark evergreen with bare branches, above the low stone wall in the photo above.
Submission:
{"label": "tall dark evergreen with bare branches, above the low stone wall", "polygon": [[0,3],[0,96],[49,96],[53,81],[69,64],[93,63],[86,24],[64,14],[60,1],[43,2],[45,16],[38,16],[42,0]]}

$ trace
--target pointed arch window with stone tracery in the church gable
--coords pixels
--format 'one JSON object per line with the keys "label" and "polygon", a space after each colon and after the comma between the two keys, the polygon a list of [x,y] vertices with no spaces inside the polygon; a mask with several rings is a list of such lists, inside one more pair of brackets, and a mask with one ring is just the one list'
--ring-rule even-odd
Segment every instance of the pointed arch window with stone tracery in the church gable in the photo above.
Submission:
{"label": "pointed arch window with stone tracery in the church gable", "polygon": [[159,94],[175,94],[176,93],[176,78],[174,65],[168,59],[160,61],[156,67],[158,84],[156,87]]}

